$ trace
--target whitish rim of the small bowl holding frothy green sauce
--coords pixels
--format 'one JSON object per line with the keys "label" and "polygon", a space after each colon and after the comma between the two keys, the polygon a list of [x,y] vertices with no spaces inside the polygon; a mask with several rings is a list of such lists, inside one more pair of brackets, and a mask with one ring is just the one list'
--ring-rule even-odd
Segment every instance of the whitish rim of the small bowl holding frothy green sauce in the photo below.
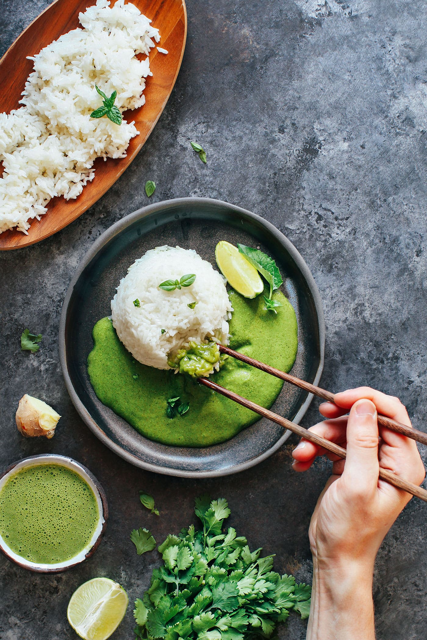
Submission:
{"label": "whitish rim of the small bowl holding frothy green sauce", "polygon": [[104,531],[107,526],[108,520],[108,504],[107,497],[104,492],[104,489],[101,486],[101,483],[97,480],[95,476],[93,476],[92,472],[85,465],[82,465],[80,462],[73,460],[69,456],[61,456],[60,454],[54,453],[44,453],[38,454],[36,456],[29,456],[28,458],[22,458],[22,460],[18,460],[17,462],[13,462],[3,474],[0,474],[0,491],[3,488],[4,484],[13,477],[16,473],[18,473],[23,468],[28,467],[36,467],[42,464],[58,464],[62,467],[66,467],[74,471],[77,475],[79,475],[92,489],[93,495],[95,496],[95,500],[97,501],[98,511],[99,511],[99,520],[95,531],[93,532],[92,538],[90,542],[76,555],[72,558],[65,560],[61,563],[55,564],[42,564],[35,563],[29,560],[26,560],[19,554],[15,553],[3,539],[0,533],[0,550],[3,552],[4,556],[6,556],[9,560],[18,564],[24,569],[28,569],[29,571],[33,571],[36,573],[60,573],[63,571],[67,571],[68,569],[76,566],[77,564],[82,563],[88,557],[92,556],[93,553],[99,547],[99,543],[101,543],[102,536],[104,535]]}

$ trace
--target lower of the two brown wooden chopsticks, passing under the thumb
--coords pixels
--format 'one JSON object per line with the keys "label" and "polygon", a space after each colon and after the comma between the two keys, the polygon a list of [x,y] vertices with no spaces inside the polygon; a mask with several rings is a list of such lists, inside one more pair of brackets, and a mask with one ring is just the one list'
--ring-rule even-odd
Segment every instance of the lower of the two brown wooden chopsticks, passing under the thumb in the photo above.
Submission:
{"label": "lower of the two brown wooden chopsticks, passing under the thumb", "polygon": [[[312,431],[309,431],[308,429],[304,429],[299,424],[294,424],[294,422],[291,422],[291,420],[282,418],[281,415],[277,415],[277,413],[273,413],[269,409],[265,409],[263,406],[260,406],[259,404],[255,404],[254,402],[251,402],[250,400],[242,396],[238,396],[238,394],[235,394],[234,392],[229,391],[225,387],[221,387],[220,385],[217,385],[216,382],[212,382],[208,378],[198,378],[198,382],[201,385],[204,385],[205,387],[209,387],[210,389],[213,389],[219,394],[222,394],[223,396],[230,398],[230,400],[234,400],[234,402],[237,402],[242,406],[245,406],[246,408],[251,409],[255,413],[259,413],[259,415],[263,415],[269,420],[272,420],[273,422],[280,424],[281,427],[284,427],[285,429],[289,429],[289,431],[293,431],[293,433],[296,433],[296,435],[300,436],[300,438],[305,438],[305,440],[310,440],[310,442],[314,442],[314,444],[319,445],[319,447],[323,447],[323,449],[326,449],[326,451],[330,451],[332,453],[337,454],[337,456],[340,456],[340,458],[346,457],[346,450],[342,449],[342,447],[335,444],[335,442],[330,442],[330,440],[321,438],[321,436],[316,435],[316,433],[312,433]],[[398,489],[403,489],[403,491],[411,493],[412,495],[415,495],[417,498],[424,500],[424,502],[427,502],[427,491],[425,489],[421,488],[421,486],[417,486],[416,484],[412,484],[410,482],[407,482],[406,480],[403,480],[401,477],[396,476],[396,474],[394,474],[392,471],[388,471],[387,469],[380,468],[380,478],[390,484],[393,484]]]}

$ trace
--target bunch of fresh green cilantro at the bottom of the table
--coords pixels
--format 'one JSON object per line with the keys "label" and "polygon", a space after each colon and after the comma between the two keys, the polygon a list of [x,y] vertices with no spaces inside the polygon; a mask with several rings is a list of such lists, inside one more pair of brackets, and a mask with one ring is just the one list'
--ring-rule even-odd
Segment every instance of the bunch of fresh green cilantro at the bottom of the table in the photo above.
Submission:
{"label": "bunch of fresh green cilantro at the bottom of the table", "polygon": [[307,618],[311,588],[273,572],[273,556],[250,552],[246,538],[230,527],[225,499],[196,500],[203,529],[182,529],[159,546],[163,566],[135,602],[138,638],[154,640],[243,640],[270,638],[290,611]]}

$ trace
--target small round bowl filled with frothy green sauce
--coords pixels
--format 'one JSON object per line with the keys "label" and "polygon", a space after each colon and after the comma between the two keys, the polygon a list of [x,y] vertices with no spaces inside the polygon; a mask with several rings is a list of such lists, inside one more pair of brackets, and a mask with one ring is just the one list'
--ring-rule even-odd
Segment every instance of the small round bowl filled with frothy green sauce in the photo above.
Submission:
{"label": "small round bowl filled with frothy green sauce", "polygon": [[70,458],[35,456],[17,463],[0,480],[3,552],[35,571],[83,561],[104,529],[99,488]]}

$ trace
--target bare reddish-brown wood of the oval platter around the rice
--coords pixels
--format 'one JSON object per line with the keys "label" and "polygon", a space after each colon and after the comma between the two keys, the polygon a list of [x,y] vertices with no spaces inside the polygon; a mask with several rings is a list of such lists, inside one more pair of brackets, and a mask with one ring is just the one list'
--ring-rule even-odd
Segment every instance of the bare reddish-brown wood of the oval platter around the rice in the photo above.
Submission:
{"label": "bare reddish-brown wood of the oval platter around the rice", "polygon": [[[132,0],[141,13],[147,15],[152,25],[159,29],[159,47],[168,54],[159,53],[154,47],[150,51],[152,76],[147,77],[144,90],[145,104],[133,110],[124,111],[125,120],[135,121],[139,136],[132,138],[127,148],[127,156],[95,160],[95,178],[89,182],[75,200],[65,200],[62,196],[53,198],[47,205],[47,212],[40,221],[33,220],[28,236],[20,231],[8,230],[0,234],[0,250],[16,249],[34,244],[56,233],[76,220],[91,207],[122,175],[133,161],[166,106],[181,67],[187,36],[187,13],[184,0]],[[0,113],[9,113],[19,108],[19,100],[24,85],[33,70],[33,62],[26,56],[34,56],[43,47],[56,40],[63,33],[79,26],[79,12],[95,4],[95,0],[56,0],[13,42],[0,60]],[[114,0],[111,4],[114,4]],[[0,164],[1,170],[1,164]]]}

